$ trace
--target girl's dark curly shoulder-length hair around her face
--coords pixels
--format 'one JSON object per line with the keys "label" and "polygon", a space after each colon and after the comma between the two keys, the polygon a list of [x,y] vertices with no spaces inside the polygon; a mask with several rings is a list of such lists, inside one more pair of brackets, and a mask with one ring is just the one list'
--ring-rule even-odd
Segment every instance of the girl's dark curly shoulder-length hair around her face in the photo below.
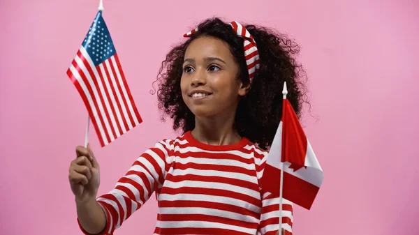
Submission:
{"label": "girl's dark curly shoulder-length hair around her face", "polygon": [[[235,117],[235,128],[242,137],[262,149],[269,149],[277,131],[282,114],[282,89],[284,82],[288,88],[288,100],[300,117],[307,76],[295,57],[300,52],[288,36],[262,26],[244,25],[251,33],[258,47],[260,70],[256,73],[251,89],[242,97]],[[165,116],[173,119],[173,129],[182,128],[183,132],[193,130],[195,115],[182,99],[180,79],[184,54],[191,41],[203,36],[219,38],[230,47],[230,52],[240,65],[239,79],[249,83],[249,73],[244,59],[243,38],[237,36],[229,24],[219,18],[205,20],[198,25],[199,31],[184,43],[177,45],[166,55],[161,63],[157,92],[159,109]]]}

